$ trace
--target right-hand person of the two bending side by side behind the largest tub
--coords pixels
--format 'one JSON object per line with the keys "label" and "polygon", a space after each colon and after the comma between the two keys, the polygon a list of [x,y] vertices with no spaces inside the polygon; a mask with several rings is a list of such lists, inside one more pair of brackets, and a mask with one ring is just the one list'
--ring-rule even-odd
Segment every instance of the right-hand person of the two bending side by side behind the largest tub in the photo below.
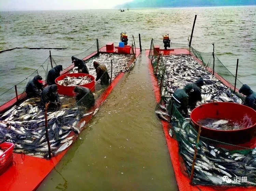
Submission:
{"label": "right-hand person of the two bending side by side behind the largest tub", "polygon": [[[193,92],[188,93],[188,106],[190,109],[195,108],[197,101],[202,101],[202,96],[201,96],[201,86],[204,85],[203,78],[199,78],[197,81],[194,83],[190,83],[193,86]],[[188,86],[189,84],[185,85]]]}

